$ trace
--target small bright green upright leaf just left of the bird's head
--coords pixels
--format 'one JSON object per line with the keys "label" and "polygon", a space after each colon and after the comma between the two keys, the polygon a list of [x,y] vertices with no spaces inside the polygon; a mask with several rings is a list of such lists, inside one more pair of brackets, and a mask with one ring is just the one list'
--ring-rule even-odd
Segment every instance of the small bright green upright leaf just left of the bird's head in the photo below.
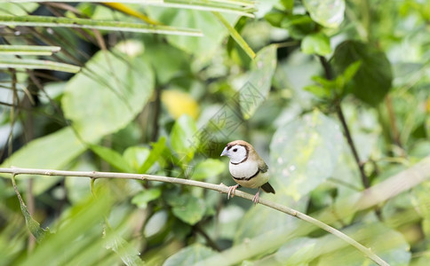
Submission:
{"label": "small bright green upright leaf just left of the bird's head", "polygon": [[192,160],[198,144],[192,142],[197,132],[195,121],[187,114],[182,115],[171,129],[171,148],[173,154],[185,165]]}

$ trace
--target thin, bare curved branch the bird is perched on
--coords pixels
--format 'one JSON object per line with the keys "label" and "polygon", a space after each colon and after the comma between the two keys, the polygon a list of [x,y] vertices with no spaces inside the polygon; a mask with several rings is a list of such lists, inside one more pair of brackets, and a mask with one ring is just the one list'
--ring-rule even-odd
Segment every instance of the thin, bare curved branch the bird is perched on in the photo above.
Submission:
{"label": "thin, bare curved branch the bird is perched on", "polygon": [[[135,179],[135,180],[148,180],[148,181],[158,181],[164,183],[171,184],[185,184],[196,187],[201,187],[204,189],[209,189],[216,192],[228,193],[228,187],[225,184],[210,184],[201,181],[182,179],[170,176],[154,176],[154,175],[139,175],[139,174],[129,174],[129,173],[112,173],[112,172],[96,172],[96,171],[63,171],[63,170],[51,170],[51,169],[35,169],[35,168],[0,168],[0,173],[9,173],[12,176],[18,175],[40,175],[40,176],[76,176],[76,177],[90,177],[92,180],[97,180],[99,178],[117,178],[117,179]],[[236,191],[235,196],[241,197],[246,200],[252,200],[253,195],[241,191]],[[303,220],[307,223],[312,223],[315,226],[323,229],[324,231],[330,232],[330,234],[335,235],[339,239],[343,239],[346,243],[354,246],[358,249],[362,254],[368,256],[373,262],[378,263],[378,265],[389,265],[377,254],[374,254],[370,248],[362,246],[362,244],[358,243],[354,239],[346,236],[341,231],[336,230],[330,225],[323,223],[315,218],[300,213],[299,211],[292,209],[291,207],[286,207],[281,204],[275,203],[270,200],[259,199],[259,204],[265,205],[267,207],[274,208],[280,212],[283,212],[287,215],[292,215],[300,220]]]}

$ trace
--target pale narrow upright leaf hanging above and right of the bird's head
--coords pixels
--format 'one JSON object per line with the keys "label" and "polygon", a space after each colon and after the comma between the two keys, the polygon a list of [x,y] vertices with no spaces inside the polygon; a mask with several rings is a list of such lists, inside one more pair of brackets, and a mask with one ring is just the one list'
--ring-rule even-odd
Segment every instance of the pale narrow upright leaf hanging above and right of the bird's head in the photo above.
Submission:
{"label": "pale narrow upright leaf hanging above and right of the bird's head", "polygon": [[239,90],[239,105],[243,118],[248,120],[266,100],[276,68],[276,46],[261,49],[251,66],[248,82]]}

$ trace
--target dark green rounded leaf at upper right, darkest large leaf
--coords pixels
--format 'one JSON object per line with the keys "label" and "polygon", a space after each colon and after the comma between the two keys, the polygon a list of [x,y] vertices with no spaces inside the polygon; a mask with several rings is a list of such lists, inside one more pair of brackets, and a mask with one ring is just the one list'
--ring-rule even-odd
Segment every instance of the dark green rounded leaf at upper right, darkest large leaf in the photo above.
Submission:
{"label": "dark green rounded leaf at upper right, darkest large leaf", "polygon": [[[338,73],[349,77],[358,68],[351,64],[361,61],[360,69],[354,74],[351,82],[346,86],[354,96],[371,106],[377,106],[391,89],[393,73],[391,64],[383,51],[370,46],[370,44],[357,41],[346,41],[338,45],[330,60]],[[348,66],[352,68],[347,70]]]}

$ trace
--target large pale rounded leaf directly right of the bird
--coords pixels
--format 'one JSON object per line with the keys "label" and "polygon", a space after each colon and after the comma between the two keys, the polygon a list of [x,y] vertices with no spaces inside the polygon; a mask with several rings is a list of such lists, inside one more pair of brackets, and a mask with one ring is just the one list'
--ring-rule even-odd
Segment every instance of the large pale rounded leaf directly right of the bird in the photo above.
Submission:
{"label": "large pale rounded leaf directly right of the bird", "polygon": [[299,200],[322,184],[336,168],[342,141],[338,123],[318,111],[279,127],[270,144],[276,192]]}

